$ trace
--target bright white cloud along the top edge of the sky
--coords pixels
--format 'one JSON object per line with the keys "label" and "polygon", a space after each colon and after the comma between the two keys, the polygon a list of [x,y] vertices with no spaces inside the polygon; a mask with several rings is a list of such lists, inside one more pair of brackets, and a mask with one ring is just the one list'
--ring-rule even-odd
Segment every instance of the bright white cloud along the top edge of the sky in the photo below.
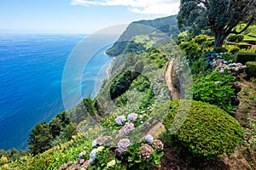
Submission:
{"label": "bright white cloud along the top edge of the sky", "polygon": [[177,14],[180,0],[72,0],[72,5],[125,6],[139,14]]}

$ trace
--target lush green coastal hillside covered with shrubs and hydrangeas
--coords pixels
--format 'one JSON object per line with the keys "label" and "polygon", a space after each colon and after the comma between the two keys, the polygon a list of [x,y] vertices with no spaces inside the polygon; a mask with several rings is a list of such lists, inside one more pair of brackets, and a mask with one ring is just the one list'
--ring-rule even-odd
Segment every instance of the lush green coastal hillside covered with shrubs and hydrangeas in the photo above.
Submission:
{"label": "lush green coastal hillside covered with shrubs and hydrangeas", "polygon": [[[1,150],[0,169],[255,168],[255,49],[242,42],[255,26],[214,48],[211,31],[178,33],[175,17],[132,23],[108,50],[120,55],[96,97],[38,123],[29,150]],[[166,86],[169,61],[180,100],[171,100]],[[166,130],[159,135],[152,128],[160,122]],[[236,165],[238,158],[231,165],[235,151],[246,165]]]}

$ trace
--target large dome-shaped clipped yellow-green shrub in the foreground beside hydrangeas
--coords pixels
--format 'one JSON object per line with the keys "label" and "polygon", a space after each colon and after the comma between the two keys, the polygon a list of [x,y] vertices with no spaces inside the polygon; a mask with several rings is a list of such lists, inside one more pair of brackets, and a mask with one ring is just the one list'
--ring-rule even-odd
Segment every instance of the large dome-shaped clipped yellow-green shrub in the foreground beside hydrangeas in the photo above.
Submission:
{"label": "large dome-shaped clipped yellow-green shrub in the foreground beside hydrangeas", "polygon": [[[172,128],[179,109],[179,100],[172,100],[163,122],[166,129]],[[186,101],[183,101],[186,102]],[[192,101],[183,126],[171,134],[172,144],[188,150],[194,158],[206,160],[231,155],[241,144],[243,131],[239,123],[215,105]],[[170,131],[168,131],[170,132]]]}

